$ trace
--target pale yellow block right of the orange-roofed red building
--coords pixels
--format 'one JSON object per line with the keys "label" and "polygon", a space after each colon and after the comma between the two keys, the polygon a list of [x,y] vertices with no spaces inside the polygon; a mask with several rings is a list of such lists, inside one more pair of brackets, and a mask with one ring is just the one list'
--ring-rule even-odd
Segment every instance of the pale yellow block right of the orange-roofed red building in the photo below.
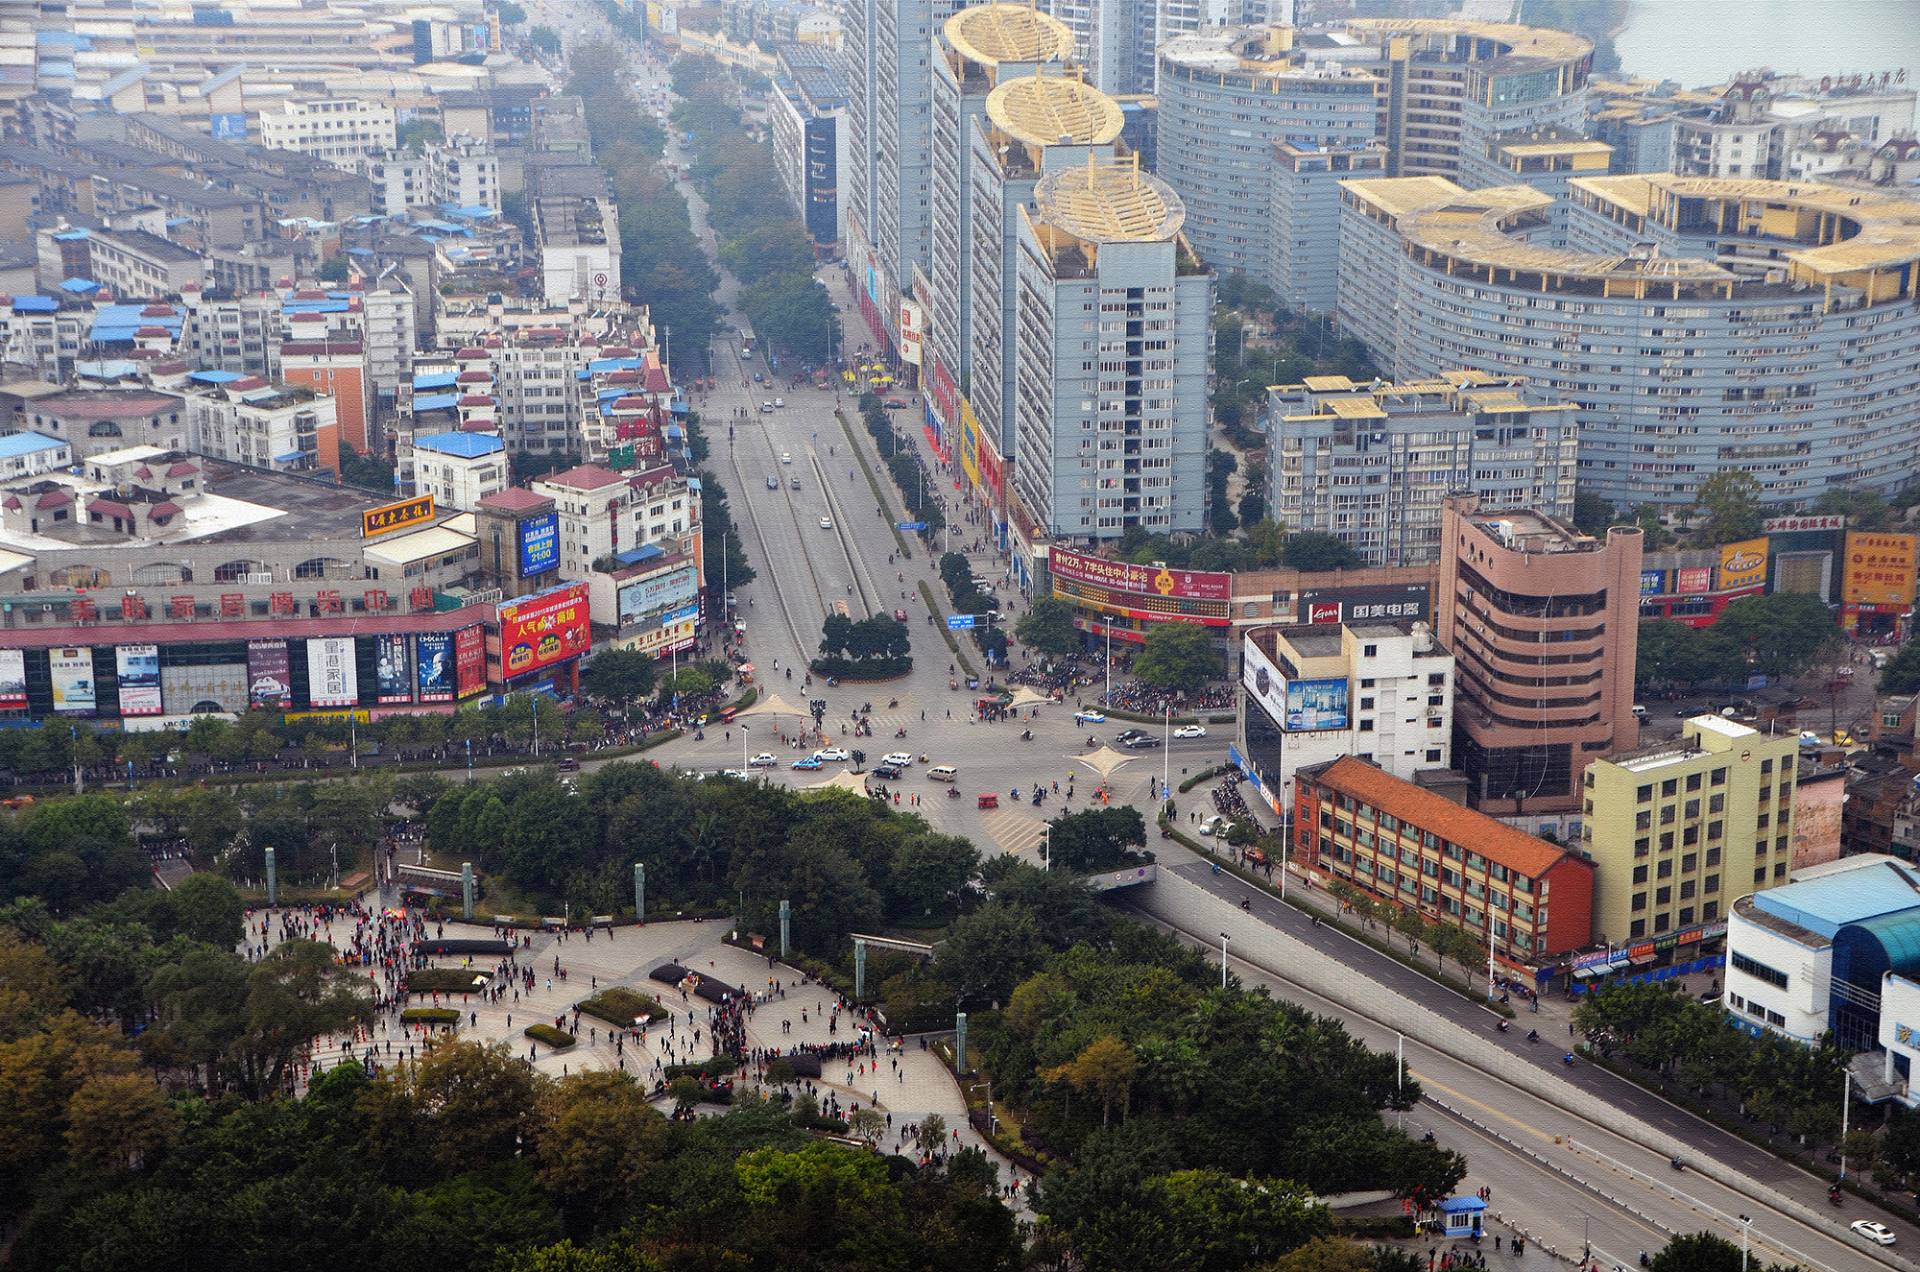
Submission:
{"label": "pale yellow block right of the orange-roofed red building", "polygon": [[1718,715],[1596,759],[1582,778],[1580,849],[1594,863],[1594,940],[1640,942],[1728,917],[1788,882],[1799,740]]}

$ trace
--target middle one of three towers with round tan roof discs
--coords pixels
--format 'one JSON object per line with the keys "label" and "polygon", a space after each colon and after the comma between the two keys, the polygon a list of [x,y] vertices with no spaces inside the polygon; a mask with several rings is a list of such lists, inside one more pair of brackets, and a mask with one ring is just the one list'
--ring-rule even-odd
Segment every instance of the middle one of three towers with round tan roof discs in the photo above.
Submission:
{"label": "middle one of three towers with round tan roof discs", "polygon": [[[1000,471],[1014,453],[1014,296],[1020,277],[1020,217],[1041,177],[1112,161],[1125,127],[1119,106],[1092,85],[1062,75],[1008,79],[987,98],[987,123],[973,133],[972,227],[973,325],[968,404],[975,467]],[[937,382],[937,380],[935,380]],[[964,417],[962,417],[964,419]],[[989,482],[991,484],[991,482]]]}

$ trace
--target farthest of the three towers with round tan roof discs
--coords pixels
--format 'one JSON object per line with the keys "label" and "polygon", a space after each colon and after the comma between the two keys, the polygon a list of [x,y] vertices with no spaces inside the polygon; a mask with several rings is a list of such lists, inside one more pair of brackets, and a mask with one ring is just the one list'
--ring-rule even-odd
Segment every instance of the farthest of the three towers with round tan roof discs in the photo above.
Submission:
{"label": "farthest of the three towers with round tan roof discs", "polygon": [[927,225],[927,325],[922,373],[960,377],[970,390],[973,257],[968,250],[973,211],[970,165],[973,136],[1000,83],[1060,73],[1073,52],[1073,33],[1025,4],[977,4],[960,10],[933,40],[933,215]]}

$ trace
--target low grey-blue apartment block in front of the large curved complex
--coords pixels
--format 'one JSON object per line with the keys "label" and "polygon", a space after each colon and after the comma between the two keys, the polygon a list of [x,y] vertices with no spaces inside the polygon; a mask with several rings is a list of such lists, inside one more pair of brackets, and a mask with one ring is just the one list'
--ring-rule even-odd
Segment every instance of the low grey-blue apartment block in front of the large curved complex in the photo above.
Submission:
{"label": "low grey-blue apartment block in front of the large curved complex", "polygon": [[1338,536],[1367,565],[1438,561],[1440,507],[1461,490],[1572,519],[1578,407],[1524,379],[1321,375],[1269,388],[1265,423],[1273,517]]}

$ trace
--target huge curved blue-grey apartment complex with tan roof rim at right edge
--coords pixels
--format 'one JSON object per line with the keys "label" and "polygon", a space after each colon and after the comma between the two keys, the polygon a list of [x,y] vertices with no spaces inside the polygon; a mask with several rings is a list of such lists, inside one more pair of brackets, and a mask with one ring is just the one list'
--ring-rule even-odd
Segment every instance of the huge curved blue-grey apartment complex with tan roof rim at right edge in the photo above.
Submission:
{"label": "huge curved blue-grey apartment complex with tan roof rim at right edge", "polygon": [[1768,503],[1920,475],[1920,200],[1816,183],[1615,175],[1342,188],[1340,327],[1402,380],[1524,375],[1580,405],[1580,482],[1690,505],[1715,473]]}

